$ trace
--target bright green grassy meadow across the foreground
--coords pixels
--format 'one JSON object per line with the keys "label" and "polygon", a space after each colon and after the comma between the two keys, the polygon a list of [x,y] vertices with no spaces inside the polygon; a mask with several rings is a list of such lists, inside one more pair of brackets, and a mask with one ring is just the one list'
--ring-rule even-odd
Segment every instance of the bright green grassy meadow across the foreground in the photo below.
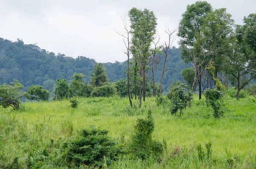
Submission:
{"label": "bright green grassy meadow across the foreground", "polygon": [[[220,119],[196,97],[181,117],[171,115],[168,104],[157,107],[154,97],[146,98],[141,109],[136,108],[137,100],[133,102],[133,109],[127,98],[120,97],[79,98],[77,109],[69,100],[26,102],[16,111],[0,109],[0,168],[67,168],[57,165],[59,145],[92,125],[128,145],[137,119],[145,118],[148,110],[154,119],[153,138],[167,145],[162,157],[141,160],[124,155],[105,168],[256,168],[253,98],[227,98]],[[201,144],[206,153],[207,143],[212,144],[212,158],[200,160],[197,147]]]}

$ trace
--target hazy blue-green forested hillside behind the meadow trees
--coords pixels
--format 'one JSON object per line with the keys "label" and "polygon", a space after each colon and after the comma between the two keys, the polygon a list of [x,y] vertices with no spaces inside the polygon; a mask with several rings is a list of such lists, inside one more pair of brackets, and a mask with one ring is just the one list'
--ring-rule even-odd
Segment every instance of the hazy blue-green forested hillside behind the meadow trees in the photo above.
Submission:
{"label": "hazy blue-green forested hillside behind the meadow trees", "polygon": [[[187,66],[180,58],[180,48],[172,47],[171,58],[167,61],[167,67],[177,70],[167,71],[164,75],[163,87],[168,88],[173,80],[183,80],[180,71]],[[65,54],[55,54],[41,49],[36,44],[24,44],[20,39],[12,42],[0,38],[0,84],[10,83],[17,79],[24,85],[24,89],[32,85],[44,86],[44,89],[52,92],[55,80],[58,78],[67,79],[76,73],[84,74],[84,80],[90,80],[90,74],[96,61],[84,56],[77,58],[65,56]],[[103,63],[110,82],[115,82],[121,78],[125,79],[127,62]],[[155,71],[155,81],[160,81],[163,61],[161,61]],[[148,79],[151,73],[148,71]]]}

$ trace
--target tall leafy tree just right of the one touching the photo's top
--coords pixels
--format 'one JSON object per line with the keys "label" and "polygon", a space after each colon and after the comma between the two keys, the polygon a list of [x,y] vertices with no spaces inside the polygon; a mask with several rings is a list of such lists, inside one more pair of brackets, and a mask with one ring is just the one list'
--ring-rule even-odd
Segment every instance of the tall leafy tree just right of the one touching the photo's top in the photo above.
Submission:
{"label": "tall leafy tree just right of the one touching the photo's top", "polygon": [[225,58],[233,52],[230,43],[234,34],[234,20],[231,17],[227,9],[215,9],[207,13],[201,25],[201,34],[206,40],[205,49],[211,51],[209,61],[214,62],[215,79],[218,79],[218,73],[223,71]]}

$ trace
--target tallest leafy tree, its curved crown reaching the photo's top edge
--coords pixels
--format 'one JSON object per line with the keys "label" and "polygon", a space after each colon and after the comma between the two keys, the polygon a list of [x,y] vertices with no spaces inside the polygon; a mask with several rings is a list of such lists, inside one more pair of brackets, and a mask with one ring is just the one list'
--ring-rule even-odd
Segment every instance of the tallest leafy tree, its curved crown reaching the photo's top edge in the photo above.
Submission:
{"label": "tallest leafy tree, its curved crown reaching the photo's top edge", "polygon": [[[197,1],[192,5],[188,5],[186,11],[182,14],[182,19],[180,20],[178,27],[178,36],[181,38],[180,46],[183,49],[190,49],[194,46],[194,43],[197,42],[197,37],[201,34],[201,25],[203,24],[203,20],[206,17],[207,13],[212,11],[212,6],[206,1]],[[199,48],[198,50],[200,50]],[[194,52],[195,54],[200,52]],[[186,53],[185,53],[186,54]],[[183,60],[188,62],[201,62],[200,56],[193,54],[193,57],[184,58],[184,53],[182,53]],[[205,61],[204,61],[205,62]],[[199,86],[199,100],[201,99],[201,74],[196,74],[196,72],[201,72],[201,63],[197,63],[195,76],[196,82],[198,80]],[[198,70],[199,69],[199,70]]]}

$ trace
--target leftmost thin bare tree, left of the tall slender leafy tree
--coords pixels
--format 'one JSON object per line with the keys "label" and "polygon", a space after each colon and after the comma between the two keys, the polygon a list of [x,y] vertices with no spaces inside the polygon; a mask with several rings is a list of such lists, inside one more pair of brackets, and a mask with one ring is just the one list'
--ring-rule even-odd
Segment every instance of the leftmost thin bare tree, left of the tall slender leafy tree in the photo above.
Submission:
{"label": "leftmost thin bare tree, left of the tall slender leafy tree", "polygon": [[123,42],[125,43],[125,50],[124,53],[127,55],[127,92],[128,92],[128,97],[129,97],[129,102],[130,105],[132,107],[132,100],[131,100],[131,94],[130,94],[130,32],[131,29],[128,29],[127,26],[127,20],[126,20],[126,15],[125,16],[121,16],[119,15],[122,19],[122,23],[124,26],[124,31],[123,32],[117,32],[116,30],[114,30],[117,34],[119,34],[120,36],[122,36],[123,38]]}

